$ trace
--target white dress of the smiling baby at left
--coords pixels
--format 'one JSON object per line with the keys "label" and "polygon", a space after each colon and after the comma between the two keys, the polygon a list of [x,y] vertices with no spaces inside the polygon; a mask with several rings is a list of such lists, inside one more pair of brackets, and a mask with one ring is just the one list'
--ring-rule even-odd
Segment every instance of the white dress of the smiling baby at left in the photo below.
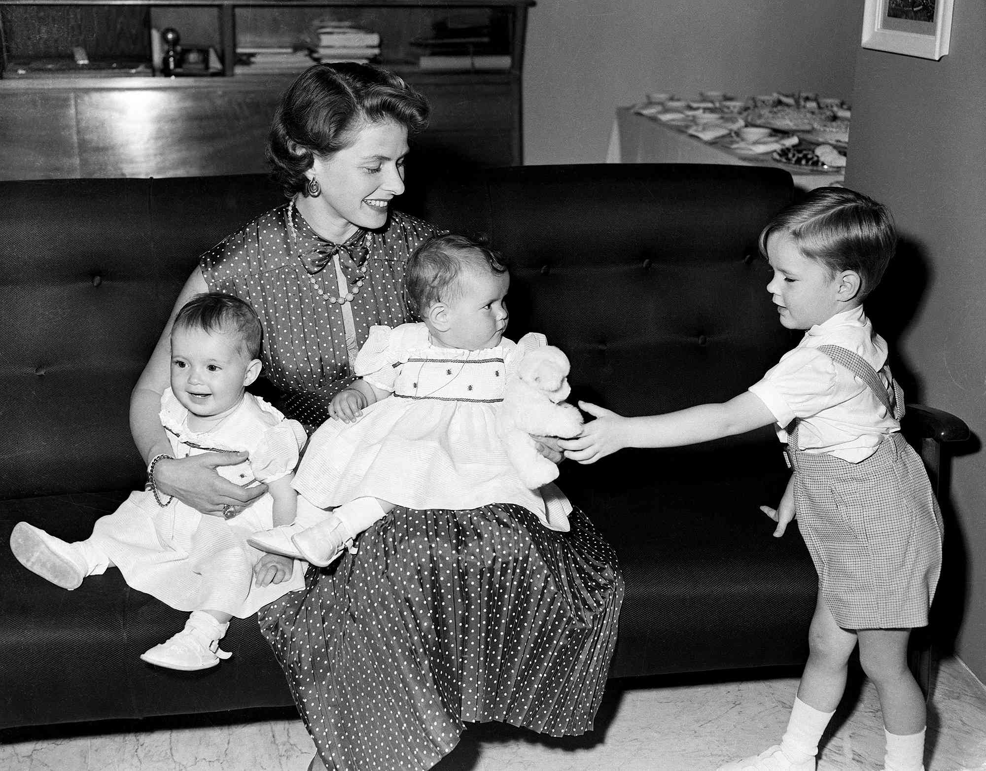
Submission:
{"label": "white dress of the smiling baby at left", "polygon": [[[187,425],[188,411],[168,388],[161,399],[161,422],[176,457],[246,450],[249,459],[217,471],[239,485],[272,482],[298,463],[305,432],[262,399],[246,393],[240,406],[208,433]],[[164,499],[163,502],[168,499]],[[258,587],[253,566],[263,552],[247,545],[256,530],[268,529],[273,498],[266,493],[232,520],[202,515],[176,498],[160,506],[150,490],[133,492],[113,514],[101,517],[89,542],[119,568],[127,585],[178,610],[220,610],[240,618],[302,589],[304,563],[291,577]]]}

